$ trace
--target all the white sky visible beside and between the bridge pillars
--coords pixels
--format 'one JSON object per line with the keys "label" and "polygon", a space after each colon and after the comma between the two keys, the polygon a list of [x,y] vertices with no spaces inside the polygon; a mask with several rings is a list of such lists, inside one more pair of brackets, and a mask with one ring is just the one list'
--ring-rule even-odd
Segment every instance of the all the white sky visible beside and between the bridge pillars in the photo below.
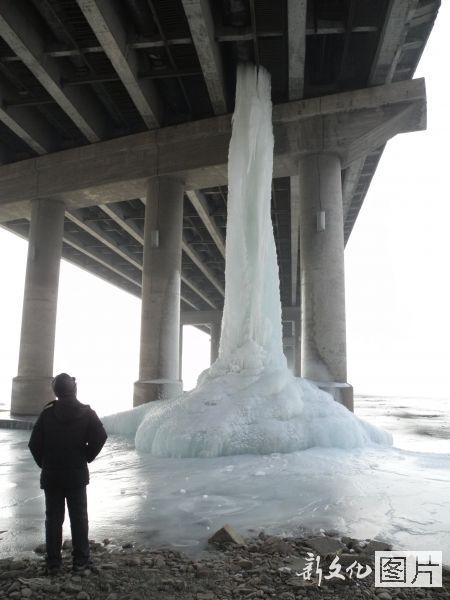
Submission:
{"label": "all the white sky visible beside and between the bridge pillars", "polygon": [[[450,3],[443,2],[416,77],[426,132],[391,140],[345,251],[348,381],[356,394],[450,398]],[[0,228],[0,404],[17,375],[27,243]],[[54,372],[77,377],[101,414],[131,406],[140,301],[61,263]],[[183,380],[209,366],[209,337],[183,335]]]}

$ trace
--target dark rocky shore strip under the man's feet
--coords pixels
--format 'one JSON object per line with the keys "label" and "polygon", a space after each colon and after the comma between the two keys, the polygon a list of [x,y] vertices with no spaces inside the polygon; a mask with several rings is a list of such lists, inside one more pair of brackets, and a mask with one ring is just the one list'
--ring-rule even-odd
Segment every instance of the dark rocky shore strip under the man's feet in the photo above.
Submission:
{"label": "dark rocky shore strip under the man's feet", "polygon": [[[335,532],[307,538],[260,533],[243,540],[232,528],[220,530],[213,538],[208,550],[195,559],[170,547],[91,542],[96,568],[77,574],[71,572],[71,545],[66,541],[64,569],[55,577],[45,576],[38,556],[6,558],[0,560],[0,599],[450,598],[447,569],[441,588],[374,587],[374,552],[391,549],[383,542],[340,537]],[[44,551],[42,546],[35,550],[37,555]],[[338,572],[340,577],[330,577]]]}

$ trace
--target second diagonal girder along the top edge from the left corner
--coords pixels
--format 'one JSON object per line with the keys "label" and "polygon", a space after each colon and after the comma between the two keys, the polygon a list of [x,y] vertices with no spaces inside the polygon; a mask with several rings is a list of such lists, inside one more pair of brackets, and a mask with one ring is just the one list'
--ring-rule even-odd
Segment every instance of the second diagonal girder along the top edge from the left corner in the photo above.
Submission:
{"label": "second diagonal girder along the top edge from the left corner", "polygon": [[127,46],[127,32],[110,0],[77,0],[112,66],[149,129],[160,124],[161,106],[152,81],[139,80],[136,50]]}

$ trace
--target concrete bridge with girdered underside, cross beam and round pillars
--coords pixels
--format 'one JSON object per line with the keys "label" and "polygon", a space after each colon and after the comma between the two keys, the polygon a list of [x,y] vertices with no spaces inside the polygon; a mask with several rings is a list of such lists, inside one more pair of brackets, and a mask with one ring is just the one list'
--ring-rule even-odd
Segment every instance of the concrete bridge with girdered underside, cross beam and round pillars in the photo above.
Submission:
{"label": "concrete bridge with girdered underside, cross beam and round pillars", "polygon": [[[180,318],[211,333],[214,358],[240,60],[272,76],[286,354],[297,374],[340,389],[344,245],[386,142],[425,128],[424,84],[410,79],[438,8],[438,0],[24,0],[19,11],[0,1],[0,223],[30,239],[13,412],[36,413],[48,394],[59,247],[142,297],[135,402],[177,389]],[[180,270],[169,296],[158,264]],[[53,280],[43,275],[52,270]],[[314,298],[313,288],[340,290],[338,300]],[[155,309],[166,304],[170,326]],[[155,331],[169,341],[150,347]],[[144,381],[165,383],[150,393]],[[43,400],[33,404],[38,388]]]}

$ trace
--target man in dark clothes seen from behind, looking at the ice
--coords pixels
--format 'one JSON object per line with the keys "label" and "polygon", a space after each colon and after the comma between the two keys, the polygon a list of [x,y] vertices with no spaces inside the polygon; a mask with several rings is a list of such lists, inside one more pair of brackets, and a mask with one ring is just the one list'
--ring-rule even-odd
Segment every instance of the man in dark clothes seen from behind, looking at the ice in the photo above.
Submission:
{"label": "man in dark clothes seen from behind, looking at the ice", "polygon": [[57,375],[52,382],[58,400],[39,415],[28,447],[41,471],[45,493],[47,572],[58,574],[61,561],[65,501],[72,531],[73,569],[89,566],[86,485],[87,463],[94,460],[107,435],[96,412],[77,400],[75,377]]}

